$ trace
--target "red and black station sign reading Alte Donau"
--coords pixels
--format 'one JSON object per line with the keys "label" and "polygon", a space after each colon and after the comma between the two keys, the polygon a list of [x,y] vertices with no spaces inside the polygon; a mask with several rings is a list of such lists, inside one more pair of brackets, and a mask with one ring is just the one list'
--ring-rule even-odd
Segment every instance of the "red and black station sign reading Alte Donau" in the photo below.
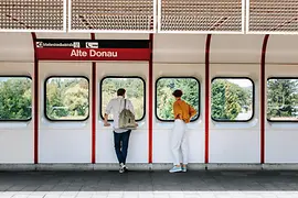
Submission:
{"label": "red and black station sign reading Alte Donau", "polygon": [[149,61],[149,40],[36,40],[40,61]]}

